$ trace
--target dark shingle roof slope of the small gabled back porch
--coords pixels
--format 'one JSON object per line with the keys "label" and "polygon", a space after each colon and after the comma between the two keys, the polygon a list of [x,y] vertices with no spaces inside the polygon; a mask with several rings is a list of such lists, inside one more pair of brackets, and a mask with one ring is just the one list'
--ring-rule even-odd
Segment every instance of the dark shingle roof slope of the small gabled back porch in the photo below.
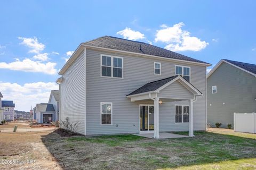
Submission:
{"label": "dark shingle roof slope of the small gabled back porch", "polygon": [[139,89],[131,92],[127,96],[141,94],[143,92],[154,91],[154,90],[158,89],[159,87],[164,86],[164,84],[166,84],[167,82],[169,82],[169,81],[171,81],[171,80],[173,80],[173,79],[175,79],[177,77],[178,76],[176,75],[176,76],[173,76],[173,77],[170,77],[170,78],[166,78],[166,79],[157,80],[157,81],[153,81],[153,82],[147,83],[144,86],[140,87]]}

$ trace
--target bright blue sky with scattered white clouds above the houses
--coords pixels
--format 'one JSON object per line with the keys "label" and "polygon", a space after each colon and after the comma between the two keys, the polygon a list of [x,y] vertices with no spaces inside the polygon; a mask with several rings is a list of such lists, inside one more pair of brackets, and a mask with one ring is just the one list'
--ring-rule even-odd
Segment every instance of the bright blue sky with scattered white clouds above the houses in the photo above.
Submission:
{"label": "bright blue sky with scattered white clouds above the houses", "polygon": [[0,91],[15,109],[47,103],[80,43],[143,41],[212,66],[256,64],[256,1],[0,1]]}

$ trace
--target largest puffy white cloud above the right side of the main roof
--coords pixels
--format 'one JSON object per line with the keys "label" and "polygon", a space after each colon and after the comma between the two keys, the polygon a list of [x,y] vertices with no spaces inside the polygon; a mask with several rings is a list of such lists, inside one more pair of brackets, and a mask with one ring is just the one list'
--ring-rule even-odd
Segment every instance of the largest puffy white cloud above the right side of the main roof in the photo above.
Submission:
{"label": "largest puffy white cloud above the right side of the main roof", "polygon": [[190,32],[181,29],[183,25],[185,25],[183,22],[174,24],[173,27],[161,25],[162,29],[157,30],[155,42],[166,43],[168,44],[165,46],[166,49],[176,52],[185,50],[197,52],[209,45],[197,37],[191,37]]}

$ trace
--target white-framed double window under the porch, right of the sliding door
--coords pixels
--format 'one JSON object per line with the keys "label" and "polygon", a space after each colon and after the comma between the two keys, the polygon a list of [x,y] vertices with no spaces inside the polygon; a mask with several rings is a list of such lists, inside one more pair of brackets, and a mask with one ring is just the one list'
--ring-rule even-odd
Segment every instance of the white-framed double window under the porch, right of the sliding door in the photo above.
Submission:
{"label": "white-framed double window under the porch, right of the sliding door", "polygon": [[175,123],[189,123],[188,105],[175,105]]}

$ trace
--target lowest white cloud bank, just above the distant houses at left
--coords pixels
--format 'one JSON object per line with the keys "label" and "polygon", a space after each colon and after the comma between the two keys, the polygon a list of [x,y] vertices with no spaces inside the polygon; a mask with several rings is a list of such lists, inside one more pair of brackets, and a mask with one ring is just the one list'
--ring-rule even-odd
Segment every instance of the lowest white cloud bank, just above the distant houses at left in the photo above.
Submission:
{"label": "lowest white cloud bank, just above the distant houses at left", "polygon": [[34,82],[20,85],[0,82],[3,100],[13,100],[15,109],[20,111],[29,111],[30,106],[35,107],[37,103],[47,103],[51,90],[58,90],[58,84],[55,82]]}

